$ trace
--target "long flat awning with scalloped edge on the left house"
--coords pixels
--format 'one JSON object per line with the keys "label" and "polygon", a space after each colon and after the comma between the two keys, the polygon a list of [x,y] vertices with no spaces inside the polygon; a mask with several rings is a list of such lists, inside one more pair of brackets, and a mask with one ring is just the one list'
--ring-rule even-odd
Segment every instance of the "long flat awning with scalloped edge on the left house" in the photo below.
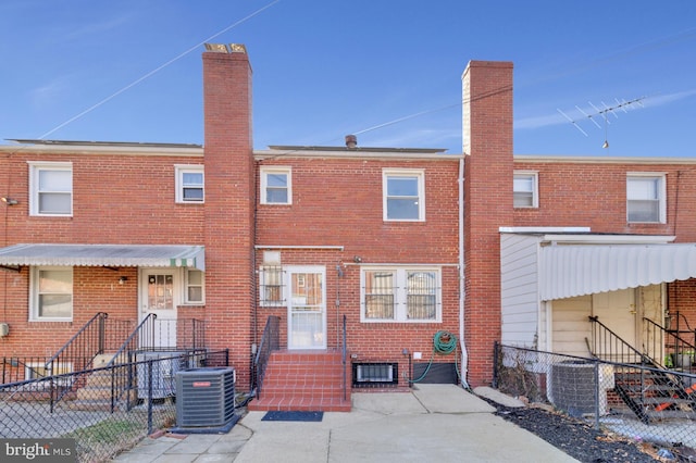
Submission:
{"label": "long flat awning with scalloped edge on the left house", "polygon": [[69,265],[104,267],[192,267],[206,270],[202,246],[14,245],[0,249],[0,267]]}

